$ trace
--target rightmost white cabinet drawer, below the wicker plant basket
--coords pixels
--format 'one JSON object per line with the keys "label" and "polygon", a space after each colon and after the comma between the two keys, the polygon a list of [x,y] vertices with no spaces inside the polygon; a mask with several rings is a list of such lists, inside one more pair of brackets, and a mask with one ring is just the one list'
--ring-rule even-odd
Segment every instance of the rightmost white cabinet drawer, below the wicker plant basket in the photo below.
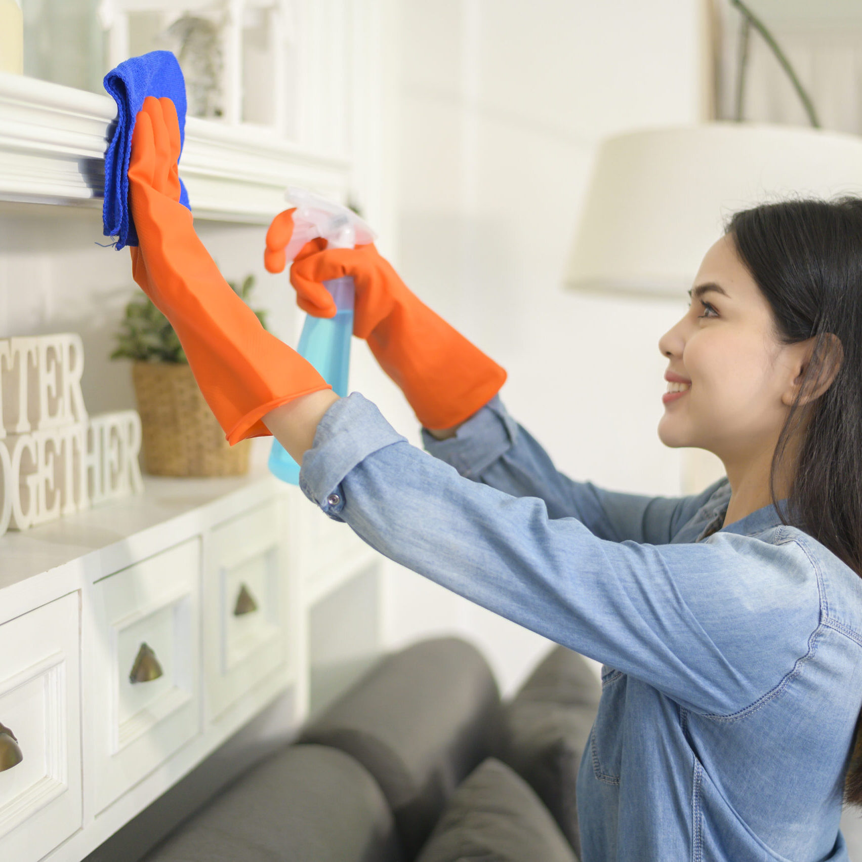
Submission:
{"label": "rightmost white cabinet drawer, below the wicker plant basket", "polygon": [[203,577],[207,714],[215,718],[286,659],[284,510],[271,500],[209,534]]}

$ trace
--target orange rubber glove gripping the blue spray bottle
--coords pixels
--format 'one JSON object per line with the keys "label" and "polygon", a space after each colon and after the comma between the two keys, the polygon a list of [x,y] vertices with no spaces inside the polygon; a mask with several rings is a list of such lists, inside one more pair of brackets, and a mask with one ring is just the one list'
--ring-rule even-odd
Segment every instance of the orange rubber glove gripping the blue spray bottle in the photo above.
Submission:
{"label": "orange rubber glove gripping the blue spray bottle", "polygon": [[[292,213],[276,215],[266,232],[269,272],[284,269]],[[335,303],[322,282],[343,276],[352,276],[356,289],[353,334],[368,341],[425,428],[452,428],[497,394],[506,380],[503,368],[422,303],[372,242],[355,248],[307,242],[290,267],[297,305],[309,315],[332,317]]]}

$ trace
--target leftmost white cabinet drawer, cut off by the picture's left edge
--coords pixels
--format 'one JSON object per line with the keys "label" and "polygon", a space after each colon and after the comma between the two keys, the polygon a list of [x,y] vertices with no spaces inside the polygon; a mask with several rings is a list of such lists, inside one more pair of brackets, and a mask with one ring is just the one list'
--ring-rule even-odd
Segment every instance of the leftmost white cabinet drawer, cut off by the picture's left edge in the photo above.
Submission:
{"label": "leftmost white cabinet drawer, cut off by the picture's left edge", "polygon": [[0,626],[0,723],[22,760],[0,771],[0,858],[41,859],[81,826],[78,593]]}

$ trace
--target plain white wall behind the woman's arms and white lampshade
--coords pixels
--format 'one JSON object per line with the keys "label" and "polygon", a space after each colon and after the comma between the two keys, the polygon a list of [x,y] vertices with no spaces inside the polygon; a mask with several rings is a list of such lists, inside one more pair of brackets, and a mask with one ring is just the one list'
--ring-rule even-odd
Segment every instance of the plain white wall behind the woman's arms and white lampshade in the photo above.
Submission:
{"label": "plain white wall behind the woman's arms and white lampshade", "polygon": [[[569,242],[604,134],[702,110],[699,0],[402,0],[397,265],[509,372],[510,412],[572,478],[681,493],[659,441],[658,340],[687,300],[564,292]],[[705,251],[705,249],[704,249]],[[391,636],[455,628],[511,690],[547,643],[393,578]]]}

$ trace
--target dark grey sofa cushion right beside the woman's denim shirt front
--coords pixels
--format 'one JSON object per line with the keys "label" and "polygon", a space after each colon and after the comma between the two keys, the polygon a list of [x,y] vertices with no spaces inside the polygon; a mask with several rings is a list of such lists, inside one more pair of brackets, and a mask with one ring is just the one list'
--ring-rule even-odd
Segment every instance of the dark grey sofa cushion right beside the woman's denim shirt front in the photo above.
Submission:
{"label": "dark grey sofa cushion right beside the woman's denim shirt front", "polygon": [[503,707],[498,757],[536,791],[577,853],[575,786],[601,695],[584,657],[555,647]]}

